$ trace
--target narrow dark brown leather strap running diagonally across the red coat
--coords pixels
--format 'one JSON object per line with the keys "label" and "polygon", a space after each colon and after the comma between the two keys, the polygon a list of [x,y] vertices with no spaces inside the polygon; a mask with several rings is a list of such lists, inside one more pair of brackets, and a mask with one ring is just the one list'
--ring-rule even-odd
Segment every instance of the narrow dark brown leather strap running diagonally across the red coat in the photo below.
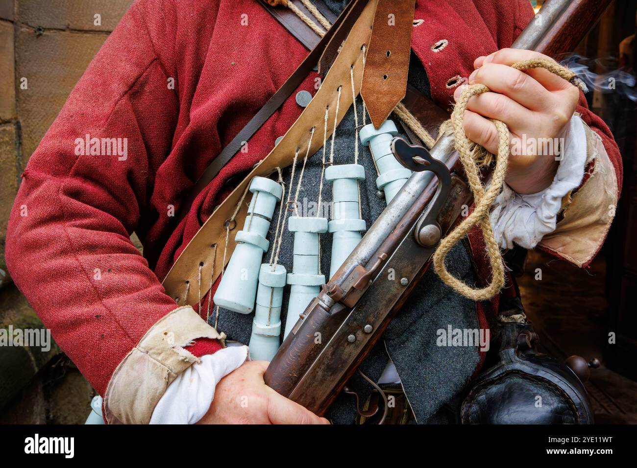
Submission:
{"label": "narrow dark brown leather strap running diagonally across the red coat", "polygon": [[[180,205],[177,216],[175,216],[177,223],[180,222],[188,213],[190,207],[192,206],[192,202],[194,202],[197,195],[199,195],[199,193],[201,193],[201,191],[208,186],[210,181],[213,180],[215,176],[217,176],[222,167],[224,167],[225,164],[241,149],[241,145],[243,145],[243,142],[248,141],[248,139],[250,139],[261,128],[266,120],[268,120],[268,118],[270,118],[271,115],[273,115],[273,113],[275,113],[275,111],[280,108],[285,100],[290,97],[290,94],[292,94],[292,92],[294,92],[294,90],[299,87],[301,82],[303,82],[303,80],[308,76],[313,67],[317,65],[318,60],[323,55],[323,52],[324,50],[326,50],[326,47],[330,43],[331,39],[334,38],[334,41],[338,44],[342,43],[343,40],[345,40],[348,32],[352,28],[352,24],[354,24],[362,8],[367,3],[368,0],[352,1],[347,6],[347,8],[343,10],[343,13],[341,13],[341,15],[336,19],[336,22],[334,22],[333,27],[331,27],[329,31],[327,31],[325,36],[319,39],[315,48],[311,50],[308,57],[306,57],[306,59],[301,62],[301,65],[297,67],[290,78],[288,78],[288,80],[283,83],[282,87],[278,89],[275,95],[269,99],[269,101],[259,110],[259,112],[257,112],[255,116],[250,119],[250,122],[248,122],[248,124],[245,125],[245,127],[243,127],[243,129],[241,129],[238,134],[236,134],[232,141],[228,143],[228,145],[225,146],[223,150],[221,150],[217,157],[212,160],[210,165],[206,167],[206,170],[203,172],[203,174],[199,176],[199,179],[195,183],[194,187],[190,190],[186,199]],[[271,8],[268,8],[268,11],[272,11]],[[351,15],[349,14],[350,12],[352,13]],[[292,14],[294,15],[294,13]],[[316,36],[316,34],[314,35]]]}

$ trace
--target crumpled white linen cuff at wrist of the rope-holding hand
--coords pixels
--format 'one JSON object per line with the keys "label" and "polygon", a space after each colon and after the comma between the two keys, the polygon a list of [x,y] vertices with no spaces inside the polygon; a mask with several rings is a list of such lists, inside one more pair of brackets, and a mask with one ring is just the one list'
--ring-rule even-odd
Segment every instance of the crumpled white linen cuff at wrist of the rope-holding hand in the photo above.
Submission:
{"label": "crumpled white linen cuff at wrist of the rope-holding hand", "polygon": [[555,230],[562,198],[582,183],[587,157],[582,118],[573,116],[558,138],[564,139],[562,160],[549,187],[536,194],[521,195],[505,183],[497,195],[490,220],[501,248],[513,248],[514,243],[534,248]]}

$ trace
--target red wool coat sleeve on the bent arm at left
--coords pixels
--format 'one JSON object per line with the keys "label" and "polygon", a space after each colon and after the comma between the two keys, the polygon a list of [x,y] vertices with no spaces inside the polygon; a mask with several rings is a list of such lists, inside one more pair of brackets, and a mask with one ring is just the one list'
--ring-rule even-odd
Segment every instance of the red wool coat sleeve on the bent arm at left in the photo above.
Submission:
{"label": "red wool coat sleeve on the bent arm at left", "polygon": [[[129,240],[178,116],[171,64],[158,55],[170,50],[170,21],[154,3],[133,4],[77,83],[22,174],[8,226],[11,277],[101,395],[177,308]],[[103,154],[102,139],[120,152]]]}

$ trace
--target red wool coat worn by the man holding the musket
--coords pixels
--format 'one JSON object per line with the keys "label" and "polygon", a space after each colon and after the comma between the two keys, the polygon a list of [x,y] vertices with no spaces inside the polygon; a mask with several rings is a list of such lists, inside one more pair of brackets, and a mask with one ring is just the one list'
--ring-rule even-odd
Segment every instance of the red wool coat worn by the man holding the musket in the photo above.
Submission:
{"label": "red wool coat worn by the man holding the musket", "polygon": [[[510,46],[532,17],[528,0],[418,0],[415,18],[424,23],[413,30],[412,47],[433,99],[448,108],[454,89],[447,81],[468,76],[479,55]],[[448,46],[433,52],[441,39]],[[161,280],[233,188],[229,179],[265,157],[296,120],[302,108],[294,94],[178,226],[169,210],[178,211],[199,174],[307,53],[254,0],[138,0],[31,156],[13,207],[7,264],[99,394],[148,330],[176,308]],[[299,89],[315,94],[315,76]],[[620,180],[610,131],[585,108],[578,111],[601,136]],[[86,134],[127,138],[127,159],[76,155],[75,139]],[[133,231],[144,257],[129,241]],[[471,241],[481,252],[480,239]],[[485,274],[483,255],[475,257]],[[497,302],[480,305],[483,325]]]}

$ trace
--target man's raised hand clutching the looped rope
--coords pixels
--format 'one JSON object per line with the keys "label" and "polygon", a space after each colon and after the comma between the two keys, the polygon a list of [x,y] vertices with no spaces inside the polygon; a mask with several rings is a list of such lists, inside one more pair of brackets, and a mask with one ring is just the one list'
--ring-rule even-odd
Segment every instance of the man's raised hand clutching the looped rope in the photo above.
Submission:
{"label": "man's raised hand clutching the looped rope", "polygon": [[[551,139],[555,143],[553,139],[568,124],[580,97],[575,86],[550,71],[538,68],[522,72],[511,67],[538,57],[552,60],[529,50],[501,49],[478,57],[473,62],[475,70],[469,75],[469,85],[482,83],[491,92],[469,99],[464,131],[471,141],[496,153],[496,126],[489,118],[509,127],[512,154],[506,183],[519,194],[534,194],[551,185],[559,166],[555,157],[562,148],[552,145],[552,153],[546,154],[543,142]],[[465,87],[455,90],[456,101]]]}

